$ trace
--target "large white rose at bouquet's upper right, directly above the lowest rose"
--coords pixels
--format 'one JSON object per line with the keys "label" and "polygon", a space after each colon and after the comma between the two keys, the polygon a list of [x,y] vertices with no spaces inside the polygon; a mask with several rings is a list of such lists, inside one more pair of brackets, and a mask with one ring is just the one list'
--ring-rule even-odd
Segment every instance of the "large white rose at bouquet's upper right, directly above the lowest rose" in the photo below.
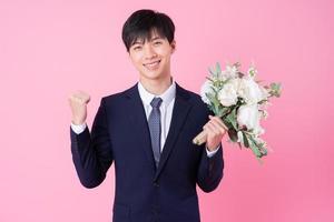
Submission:
{"label": "large white rose at bouquet's upper right, directly above the lowest rose", "polygon": [[242,78],[238,94],[247,104],[257,103],[267,98],[267,91],[252,78]]}

